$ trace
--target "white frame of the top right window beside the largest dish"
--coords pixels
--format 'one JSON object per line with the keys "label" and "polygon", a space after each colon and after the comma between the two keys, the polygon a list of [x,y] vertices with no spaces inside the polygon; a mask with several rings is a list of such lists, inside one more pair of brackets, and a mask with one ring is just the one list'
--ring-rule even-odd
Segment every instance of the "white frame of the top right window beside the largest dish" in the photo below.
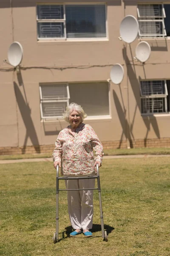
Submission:
{"label": "white frame of the top right window beside the largest dish", "polygon": [[[161,5],[162,6],[162,16],[141,16],[140,12],[139,12],[139,6],[142,5]],[[165,38],[167,37],[167,32],[165,29],[165,24],[164,24],[164,18],[166,17],[165,14],[165,10],[164,10],[164,3],[138,3],[137,4],[137,16],[138,16],[138,23],[140,22],[161,22],[162,23],[162,31],[164,32],[164,34],[141,34],[140,31],[140,26],[139,26],[139,37],[140,38]],[[144,18],[150,18],[150,19],[144,19]],[[155,18],[155,19],[151,19],[151,18]],[[156,20],[156,18],[159,18],[158,20]]]}

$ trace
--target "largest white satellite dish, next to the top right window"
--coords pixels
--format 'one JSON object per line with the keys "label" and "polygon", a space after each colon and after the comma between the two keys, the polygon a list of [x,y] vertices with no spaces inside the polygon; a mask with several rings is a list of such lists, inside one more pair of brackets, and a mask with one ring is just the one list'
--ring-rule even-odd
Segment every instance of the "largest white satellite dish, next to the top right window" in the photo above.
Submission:
{"label": "largest white satellite dish, next to the top right window", "polygon": [[138,36],[139,23],[132,15],[127,15],[120,24],[120,36],[123,41],[130,44]]}

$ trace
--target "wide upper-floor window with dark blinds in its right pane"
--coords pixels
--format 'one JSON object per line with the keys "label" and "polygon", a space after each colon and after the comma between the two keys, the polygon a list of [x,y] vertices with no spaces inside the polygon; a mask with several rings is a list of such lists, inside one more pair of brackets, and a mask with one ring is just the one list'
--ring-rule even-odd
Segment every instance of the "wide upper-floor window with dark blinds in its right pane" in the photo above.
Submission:
{"label": "wide upper-floor window with dark blinds in its right pane", "polygon": [[38,38],[106,38],[105,4],[37,5]]}

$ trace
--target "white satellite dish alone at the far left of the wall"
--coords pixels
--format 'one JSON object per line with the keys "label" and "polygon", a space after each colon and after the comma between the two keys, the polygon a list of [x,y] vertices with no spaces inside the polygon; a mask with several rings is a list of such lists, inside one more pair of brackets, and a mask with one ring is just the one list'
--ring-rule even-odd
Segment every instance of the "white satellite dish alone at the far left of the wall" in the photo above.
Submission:
{"label": "white satellite dish alone at the far left of the wall", "polygon": [[8,61],[9,63],[17,67],[23,58],[23,47],[19,42],[14,42],[8,49]]}

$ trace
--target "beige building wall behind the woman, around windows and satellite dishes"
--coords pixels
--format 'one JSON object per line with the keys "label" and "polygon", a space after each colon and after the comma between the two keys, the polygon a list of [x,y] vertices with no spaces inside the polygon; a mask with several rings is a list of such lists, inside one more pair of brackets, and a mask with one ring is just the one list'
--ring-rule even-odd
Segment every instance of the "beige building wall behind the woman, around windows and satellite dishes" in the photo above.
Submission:
{"label": "beige building wall behind the woman, around windows and satellite dishes", "polygon": [[[54,145],[57,134],[67,123],[41,119],[40,84],[107,82],[111,66],[116,63],[123,65],[125,76],[120,85],[108,84],[111,117],[85,122],[94,128],[105,145],[111,142],[109,145],[113,147],[135,147],[138,140],[170,138],[169,114],[141,115],[139,87],[140,79],[170,79],[170,41],[164,38],[147,40],[152,53],[142,65],[133,59],[139,40],[129,45],[118,39],[122,18],[126,15],[137,17],[137,1],[107,1],[108,39],[103,41],[37,41],[36,5],[39,2],[61,3],[59,0],[0,1],[0,147]],[[74,3],[79,1],[74,0]],[[23,46],[20,73],[4,61],[13,41]],[[77,68],[79,66],[84,68]],[[83,95],[79,96],[80,102],[81,97]]]}

